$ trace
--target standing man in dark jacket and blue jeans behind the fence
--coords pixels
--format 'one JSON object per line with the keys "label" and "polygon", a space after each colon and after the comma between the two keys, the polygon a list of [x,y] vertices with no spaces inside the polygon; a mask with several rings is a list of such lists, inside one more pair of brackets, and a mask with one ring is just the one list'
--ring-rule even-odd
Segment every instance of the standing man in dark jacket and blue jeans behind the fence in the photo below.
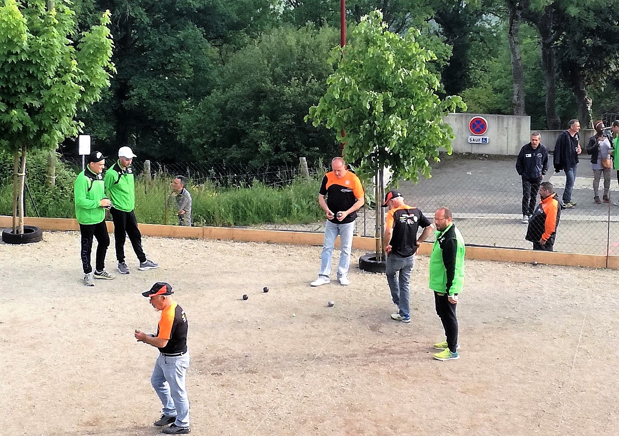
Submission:
{"label": "standing man in dark jacket and blue jeans behind the fence", "polygon": [[565,189],[563,190],[563,207],[572,209],[576,202],[572,201],[572,190],[576,180],[576,167],[578,167],[578,155],[582,152],[578,143],[578,131],[580,121],[569,120],[568,130],[563,130],[556,138],[555,154],[553,163],[555,173],[565,171]]}

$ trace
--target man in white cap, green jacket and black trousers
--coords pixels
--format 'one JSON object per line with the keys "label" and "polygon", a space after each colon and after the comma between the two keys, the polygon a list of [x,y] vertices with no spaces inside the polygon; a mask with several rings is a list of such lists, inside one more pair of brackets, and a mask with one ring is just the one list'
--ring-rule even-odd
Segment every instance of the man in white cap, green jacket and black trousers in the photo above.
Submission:
{"label": "man in white cap, green jacket and black trousers", "polygon": [[158,263],[147,259],[142,250],[142,234],[137,228],[136,186],[133,178],[131,162],[136,157],[129,147],[118,150],[118,161],[105,173],[105,192],[111,200],[110,213],[114,221],[114,237],[116,243],[116,259],[118,271],[129,274],[129,267],[124,262],[124,241],[129,236],[131,246],[140,261],[139,270],[154,270]]}

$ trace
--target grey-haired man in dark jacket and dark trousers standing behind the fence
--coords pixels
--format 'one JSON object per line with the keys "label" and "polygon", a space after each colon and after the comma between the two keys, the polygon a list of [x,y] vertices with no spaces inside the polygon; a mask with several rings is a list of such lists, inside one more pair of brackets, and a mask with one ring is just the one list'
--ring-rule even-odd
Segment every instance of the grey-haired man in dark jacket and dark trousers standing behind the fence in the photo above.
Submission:
{"label": "grey-haired man in dark jacket and dark trousers standing behind the fence", "polygon": [[531,134],[531,142],[523,145],[516,159],[516,171],[522,177],[522,222],[529,223],[543,176],[548,171],[548,149],[540,144],[539,132]]}

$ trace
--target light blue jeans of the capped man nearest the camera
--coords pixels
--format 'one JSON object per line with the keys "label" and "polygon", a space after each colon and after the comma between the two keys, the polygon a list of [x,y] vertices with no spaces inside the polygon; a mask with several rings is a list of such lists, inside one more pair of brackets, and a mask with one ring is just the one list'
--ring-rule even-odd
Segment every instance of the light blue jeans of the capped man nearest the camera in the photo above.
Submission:
{"label": "light blue jeans of the capped man nearest the camera", "polygon": [[150,384],[163,404],[163,414],[176,415],[174,423],[179,427],[189,427],[189,398],[185,388],[189,360],[189,352],[175,357],[159,353],[150,377]]}

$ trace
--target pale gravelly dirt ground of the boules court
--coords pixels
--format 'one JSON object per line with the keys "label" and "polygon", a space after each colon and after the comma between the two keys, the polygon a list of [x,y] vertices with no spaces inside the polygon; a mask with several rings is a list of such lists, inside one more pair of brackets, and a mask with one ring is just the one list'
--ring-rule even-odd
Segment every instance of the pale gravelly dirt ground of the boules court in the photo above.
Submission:
{"label": "pale gravelly dirt ground of the boules court", "polygon": [[193,435],[617,433],[617,271],[468,260],[461,359],[439,362],[426,257],[406,325],[384,275],[311,288],[320,247],[146,237],[161,268],[128,244],[131,275],[87,288],[78,239],[0,244],[1,434],[158,434],[157,350],[133,337],[156,329],[155,281],[189,320]]}

